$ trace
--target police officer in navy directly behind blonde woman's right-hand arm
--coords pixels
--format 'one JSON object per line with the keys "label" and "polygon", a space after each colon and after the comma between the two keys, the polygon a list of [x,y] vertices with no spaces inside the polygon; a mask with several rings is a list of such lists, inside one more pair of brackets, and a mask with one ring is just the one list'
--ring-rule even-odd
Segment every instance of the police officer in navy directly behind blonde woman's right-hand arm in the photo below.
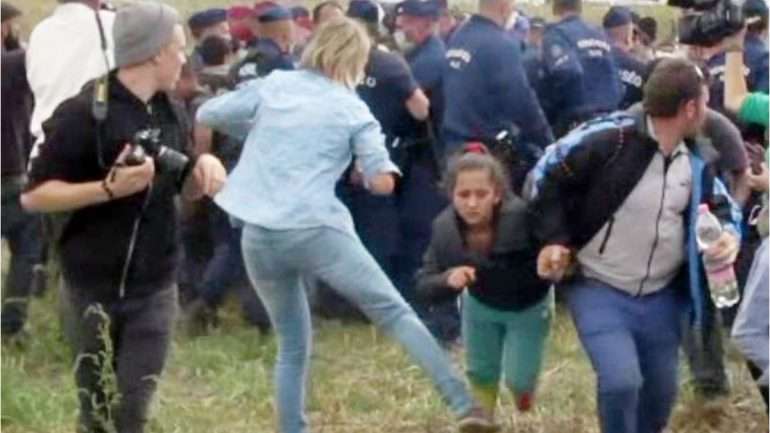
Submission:
{"label": "police officer in navy directly behind blonde woman's right-hand arm", "polygon": [[[373,40],[381,37],[382,9],[371,0],[353,0],[348,16],[363,21]],[[428,117],[429,101],[401,56],[374,44],[366,65],[366,76],[358,94],[380,122],[386,145],[399,166],[404,166],[405,138],[412,134],[411,119]],[[406,120],[405,120],[406,119]],[[364,245],[393,280],[404,298],[414,301],[412,284],[399,279],[398,254],[403,250],[399,213],[399,194],[375,196],[360,184],[356,170],[340,186],[340,196],[353,214],[356,230]]]}

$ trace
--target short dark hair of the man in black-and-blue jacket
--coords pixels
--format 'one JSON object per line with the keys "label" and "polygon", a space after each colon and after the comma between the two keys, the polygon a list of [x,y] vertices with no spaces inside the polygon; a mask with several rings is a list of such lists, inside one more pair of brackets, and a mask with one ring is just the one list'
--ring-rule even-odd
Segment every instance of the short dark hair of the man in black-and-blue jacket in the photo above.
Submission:
{"label": "short dark hair of the man in black-and-blue jacket", "polygon": [[682,104],[698,99],[705,86],[703,72],[689,60],[661,60],[644,84],[644,111],[654,117],[674,117]]}

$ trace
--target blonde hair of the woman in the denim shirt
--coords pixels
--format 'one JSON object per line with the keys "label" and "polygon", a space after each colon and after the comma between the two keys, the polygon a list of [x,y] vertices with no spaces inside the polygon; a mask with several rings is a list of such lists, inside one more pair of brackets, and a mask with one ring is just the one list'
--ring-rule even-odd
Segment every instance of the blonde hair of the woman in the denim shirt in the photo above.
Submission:
{"label": "blonde hair of the woman in the denim shirt", "polygon": [[303,67],[353,89],[363,78],[371,42],[364,27],[347,17],[321,25],[302,53]]}

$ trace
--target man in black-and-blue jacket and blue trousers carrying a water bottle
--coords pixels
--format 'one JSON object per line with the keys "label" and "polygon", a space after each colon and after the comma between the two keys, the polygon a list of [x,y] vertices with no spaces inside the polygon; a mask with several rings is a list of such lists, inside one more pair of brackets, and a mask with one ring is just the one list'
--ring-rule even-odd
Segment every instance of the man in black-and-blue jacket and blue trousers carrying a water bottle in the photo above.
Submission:
{"label": "man in black-and-blue jacket and blue trousers carrying a water bottle", "polygon": [[732,263],[738,252],[740,213],[694,139],[708,97],[695,65],[663,60],[644,86],[643,112],[584,124],[534,170],[538,273],[560,281],[578,264],[560,290],[597,372],[603,433],[663,431],[678,388],[683,298],[687,323],[711,326],[695,241],[700,204],[725,227],[703,255]]}

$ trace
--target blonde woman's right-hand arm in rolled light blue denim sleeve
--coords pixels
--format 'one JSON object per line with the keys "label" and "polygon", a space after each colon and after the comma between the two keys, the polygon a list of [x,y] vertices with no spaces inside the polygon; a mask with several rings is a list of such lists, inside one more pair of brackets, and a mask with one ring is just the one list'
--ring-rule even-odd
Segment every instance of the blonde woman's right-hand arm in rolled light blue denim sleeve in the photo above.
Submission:
{"label": "blonde woman's right-hand arm in rolled light blue denim sleeve", "polygon": [[350,144],[364,185],[375,194],[390,194],[395,187],[395,177],[401,176],[401,171],[390,160],[380,124],[363,102],[353,116]]}

